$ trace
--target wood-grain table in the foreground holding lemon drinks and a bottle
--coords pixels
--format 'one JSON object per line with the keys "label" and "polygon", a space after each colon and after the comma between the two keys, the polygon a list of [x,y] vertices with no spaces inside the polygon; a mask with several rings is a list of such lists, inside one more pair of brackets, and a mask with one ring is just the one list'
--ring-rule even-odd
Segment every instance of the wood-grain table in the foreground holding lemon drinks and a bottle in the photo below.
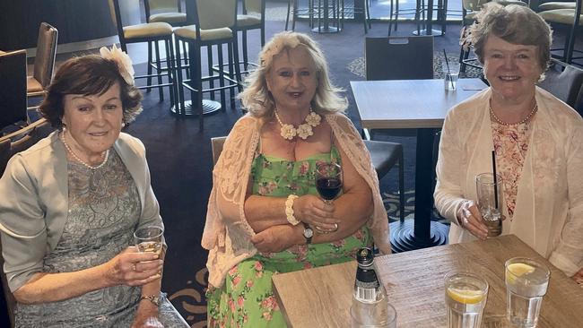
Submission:
{"label": "wood-grain table in the foreground holding lemon drinks and a bottle", "polygon": [[[443,277],[471,271],[490,284],[482,327],[505,327],[504,262],[527,256],[551,269],[539,328],[583,327],[583,289],[514,235],[437,246],[375,259],[379,278],[395,306],[397,327],[445,327]],[[274,292],[292,328],[348,327],[356,262],[274,275]]]}

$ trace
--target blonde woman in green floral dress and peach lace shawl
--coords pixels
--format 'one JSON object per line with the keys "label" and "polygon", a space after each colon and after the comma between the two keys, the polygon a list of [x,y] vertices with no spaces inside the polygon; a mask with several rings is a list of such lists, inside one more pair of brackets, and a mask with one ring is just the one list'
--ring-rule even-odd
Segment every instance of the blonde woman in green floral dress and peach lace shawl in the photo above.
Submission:
{"label": "blonde woman in green floral dress and peach lace shawl", "polygon": [[[265,44],[240,98],[248,108],[214,170],[203,246],[208,323],[283,327],[271,277],[353,258],[362,246],[390,253],[387,212],[360,135],[342,112],[326,59],[307,35]],[[343,168],[334,203],[318,197],[319,163]]]}

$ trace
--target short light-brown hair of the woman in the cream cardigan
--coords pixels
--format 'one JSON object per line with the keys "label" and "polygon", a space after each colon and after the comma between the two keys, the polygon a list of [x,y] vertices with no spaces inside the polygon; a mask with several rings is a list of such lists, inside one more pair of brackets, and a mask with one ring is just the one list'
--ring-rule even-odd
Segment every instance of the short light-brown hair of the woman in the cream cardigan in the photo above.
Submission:
{"label": "short light-brown hair of the woman in the cream cardigan", "polygon": [[536,46],[541,69],[546,71],[551,60],[553,30],[543,18],[530,8],[495,2],[483,4],[469,29],[466,41],[474,46],[474,53],[483,64],[483,48],[488,37],[495,35],[515,45]]}

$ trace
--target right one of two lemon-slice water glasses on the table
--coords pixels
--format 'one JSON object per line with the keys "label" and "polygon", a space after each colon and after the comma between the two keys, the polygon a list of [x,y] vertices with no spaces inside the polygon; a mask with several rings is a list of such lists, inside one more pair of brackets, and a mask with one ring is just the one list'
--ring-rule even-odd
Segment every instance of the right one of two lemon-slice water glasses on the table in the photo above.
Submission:
{"label": "right one of two lemon-slice water glasses on the table", "polygon": [[506,261],[506,315],[518,327],[535,327],[551,272],[543,263],[526,257]]}

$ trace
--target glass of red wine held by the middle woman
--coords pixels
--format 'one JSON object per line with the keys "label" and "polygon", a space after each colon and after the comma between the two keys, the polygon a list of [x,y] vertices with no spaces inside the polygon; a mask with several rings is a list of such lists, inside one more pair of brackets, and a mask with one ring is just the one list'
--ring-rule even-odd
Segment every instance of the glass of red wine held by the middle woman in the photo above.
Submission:
{"label": "glass of red wine held by the middle woman", "polygon": [[[332,201],[340,194],[342,190],[342,167],[338,163],[320,162],[316,165],[316,189],[318,194],[324,200],[324,203],[332,203]],[[321,229],[316,227],[320,232],[334,232],[333,230]]]}

